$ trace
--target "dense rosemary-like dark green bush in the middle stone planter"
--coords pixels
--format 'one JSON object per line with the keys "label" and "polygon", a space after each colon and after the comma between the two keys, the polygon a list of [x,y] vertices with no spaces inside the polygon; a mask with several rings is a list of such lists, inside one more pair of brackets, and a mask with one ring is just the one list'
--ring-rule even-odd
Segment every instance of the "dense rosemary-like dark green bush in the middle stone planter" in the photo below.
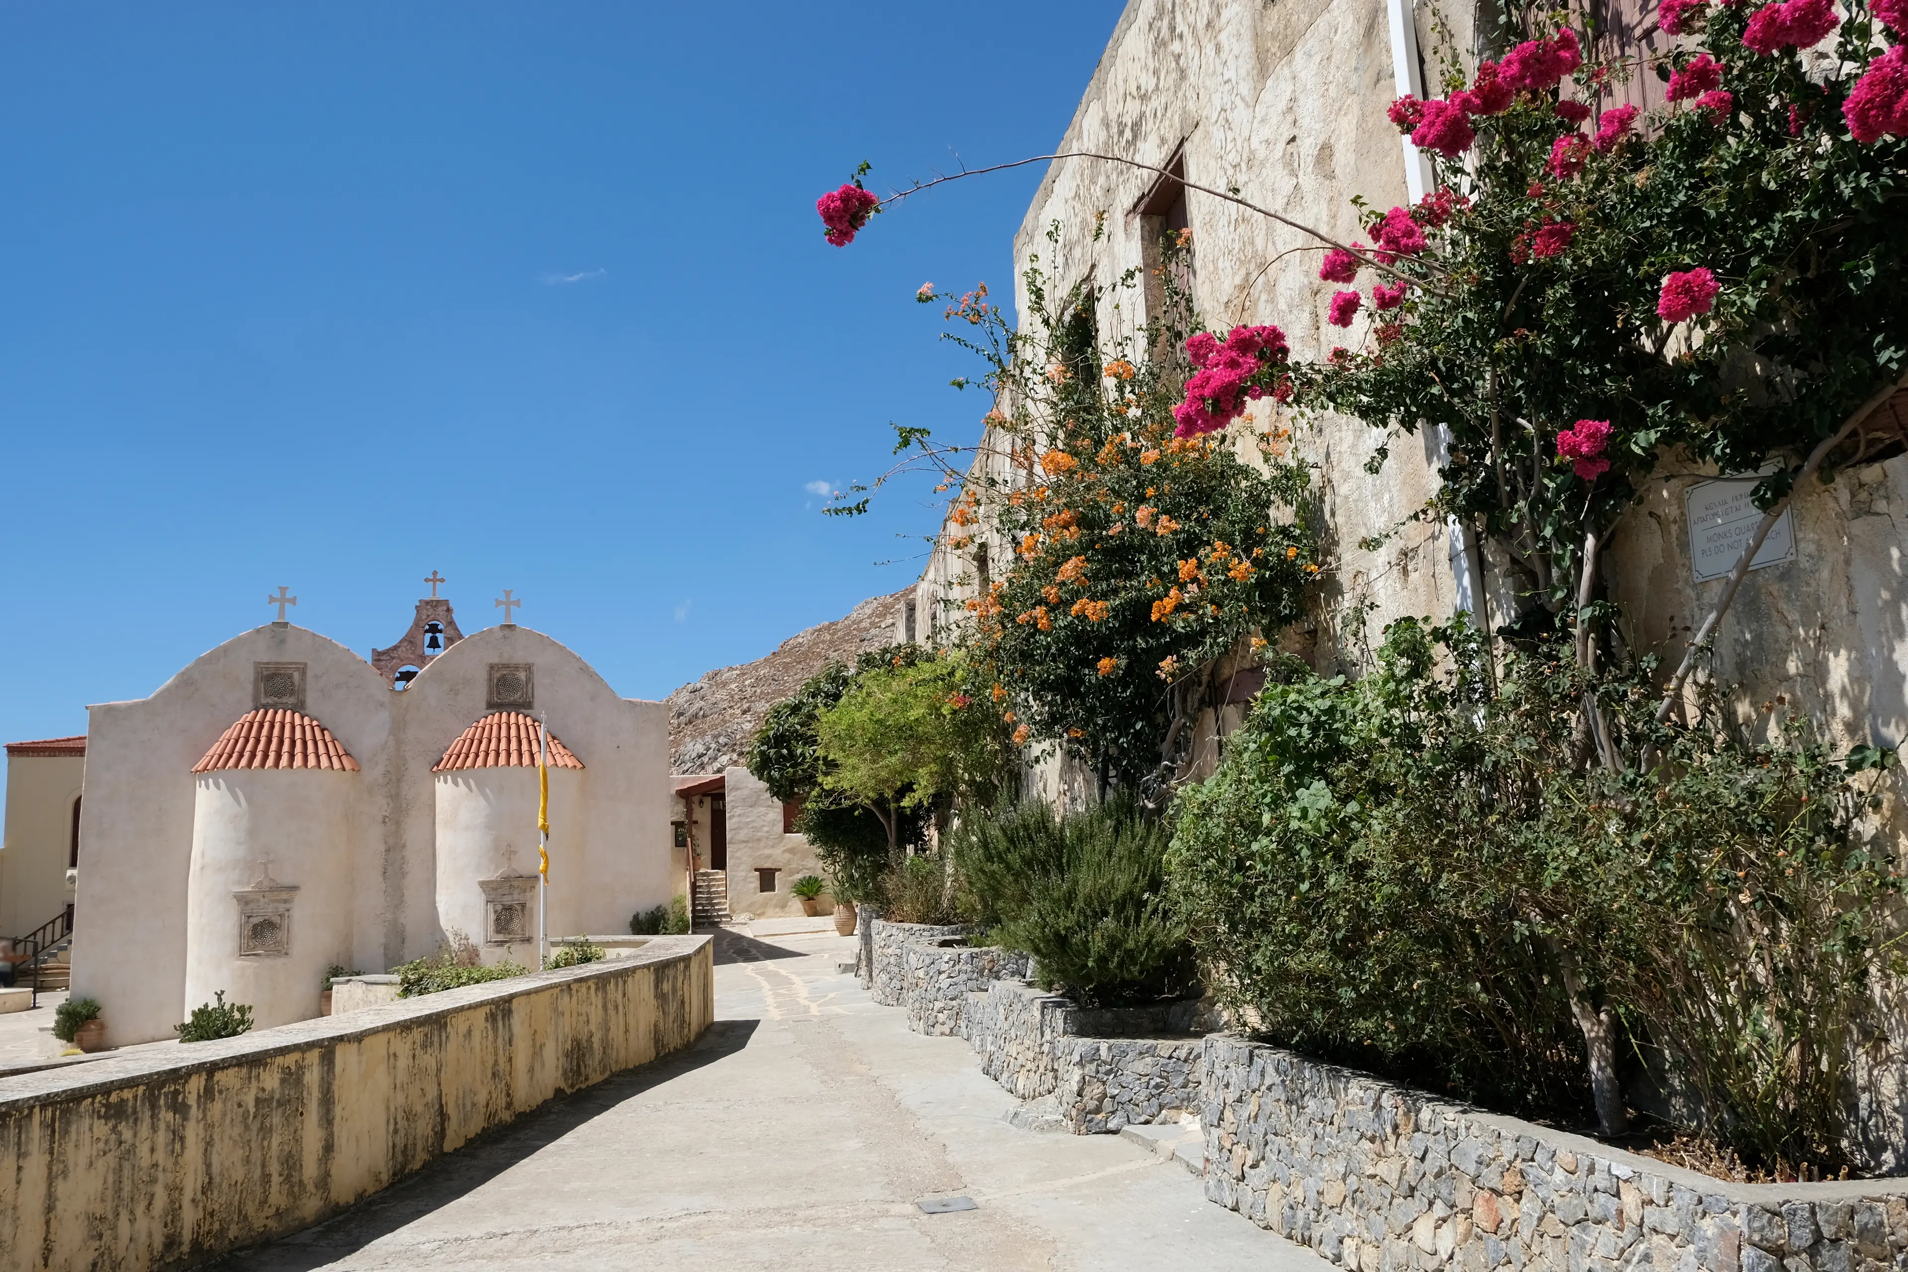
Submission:
{"label": "dense rosemary-like dark green bush in the middle stone planter", "polygon": [[1040,801],[964,822],[956,858],[983,925],[1086,1005],[1183,997],[1192,952],[1162,904],[1170,833],[1130,797],[1057,818]]}

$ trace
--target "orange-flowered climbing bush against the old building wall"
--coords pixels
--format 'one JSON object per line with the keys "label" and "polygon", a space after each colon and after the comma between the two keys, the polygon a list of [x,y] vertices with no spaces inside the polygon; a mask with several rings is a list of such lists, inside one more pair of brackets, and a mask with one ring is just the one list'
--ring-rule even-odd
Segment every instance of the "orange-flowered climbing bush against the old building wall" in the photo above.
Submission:
{"label": "orange-flowered climbing bush against the old building wall", "polygon": [[[1175,439],[1187,368],[1099,339],[1099,307],[1130,282],[1049,303],[1034,261],[1019,330],[977,294],[948,297],[958,328],[981,328],[960,341],[988,359],[990,444],[1007,460],[1006,475],[965,473],[950,513],[950,549],[994,544],[965,639],[1015,740],[1065,748],[1103,788],[1170,784],[1221,656],[1297,620],[1318,572],[1284,431],[1250,435],[1257,463],[1219,439]],[[1233,347],[1286,355],[1278,328],[1238,328]]]}

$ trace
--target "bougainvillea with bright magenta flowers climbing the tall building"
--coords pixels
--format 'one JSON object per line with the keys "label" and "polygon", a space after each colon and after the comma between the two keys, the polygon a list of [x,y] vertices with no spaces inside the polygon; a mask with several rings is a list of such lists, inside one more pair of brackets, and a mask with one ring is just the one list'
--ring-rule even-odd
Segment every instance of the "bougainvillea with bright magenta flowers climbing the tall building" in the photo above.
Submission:
{"label": "bougainvillea with bright magenta flowers climbing the tall building", "polygon": [[[1341,347],[1194,380],[1181,433],[1276,387],[1442,427],[1442,511],[1566,622],[1597,599],[1586,557],[1666,462],[1778,463],[1757,503],[1786,498],[1904,372],[1908,23],[1897,0],[1845,19],[1828,0],[1683,0],[1662,25],[1679,44],[1656,61],[1589,63],[1553,27],[1452,71],[1441,99],[1395,103],[1439,185],[1324,256],[1320,278],[1351,284],[1332,303]],[[1629,74],[1666,80],[1668,105],[1599,111]]]}

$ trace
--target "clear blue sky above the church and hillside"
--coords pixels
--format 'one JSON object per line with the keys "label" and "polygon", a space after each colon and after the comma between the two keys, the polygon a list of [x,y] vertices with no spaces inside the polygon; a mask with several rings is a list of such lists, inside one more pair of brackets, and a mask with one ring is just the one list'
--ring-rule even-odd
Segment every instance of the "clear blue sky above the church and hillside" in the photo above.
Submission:
{"label": "clear blue sky above the church and hillside", "polygon": [[[1099,4],[10,6],[0,734],[271,618],[359,652],[431,570],[626,696],[893,591],[971,439],[923,280],[998,290],[1040,168],[845,250],[815,198],[1051,149]],[[878,561],[897,561],[878,566]]]}

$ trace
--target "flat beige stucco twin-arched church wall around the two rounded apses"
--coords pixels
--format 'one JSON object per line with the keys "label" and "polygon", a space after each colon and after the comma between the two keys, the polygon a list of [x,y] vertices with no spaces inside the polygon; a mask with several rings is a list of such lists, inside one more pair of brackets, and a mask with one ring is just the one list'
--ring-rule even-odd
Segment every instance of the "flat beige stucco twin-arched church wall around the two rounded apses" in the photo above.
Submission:
{"label": "flat beige stucco twin-arched church wall around the two rounded apses", "polygon": [[[551,809],[550,908],[563,915],[551,931],[622,933],[632,912],[670,900],[668,713],[660,702],[618,698],[582,658],[527,627],[469,635],[410,688],[393,690],[336,641],[265,624],[197,658],[151,698],[90,708],[73,990],[101,1001],[114,1043],[170,1037],[198,1001],[185,994],[191,767],[252,709],[254,662],[305,664],[305,711],[361,767],[345,776],[363,793],[357,810],[332,814],[330,851],[313,858],[315,870],[349,879],[349,931],[315,931],[294,908],[300,938],[347,952],[340,959],[347,967],[384,971],[431,954],[445,938],[431,767],[487,713],[492,662],[532,664],[534,713],[584,763],[574,782],[557,780],[559,791],[574,786],[576,805],[557,799]],[[534,805],[529,820],[534,830]],[[534,870],[534,849],[525,868]],[[481,894],[475,877],[446,887]],[[231,948],[237,961],[237,936]]]}

